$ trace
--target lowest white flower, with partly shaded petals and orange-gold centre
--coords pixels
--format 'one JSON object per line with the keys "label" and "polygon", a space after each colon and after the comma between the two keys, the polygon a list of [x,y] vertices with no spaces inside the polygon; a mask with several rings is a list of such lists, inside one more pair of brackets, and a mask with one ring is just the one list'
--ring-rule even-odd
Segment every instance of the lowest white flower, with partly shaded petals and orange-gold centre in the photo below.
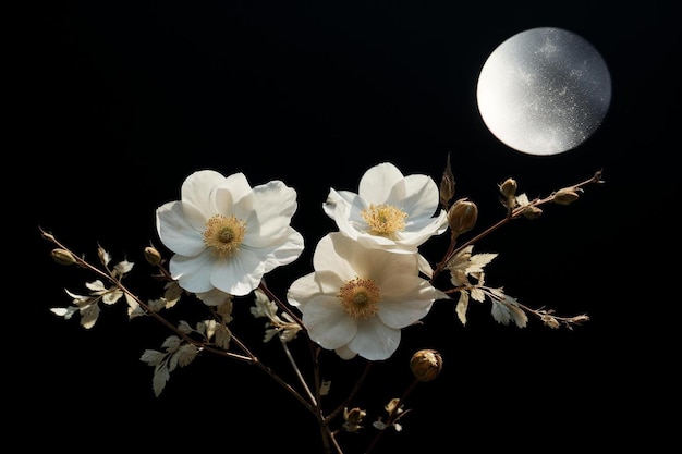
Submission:
{"label": "lowest white flower, with partly shaded petals and orange-gold centre", "polygon": [[448,296],[419,278],[416,254],[368,249],[340,232],[322,237],[315,271],[295,280],[287,294],[303,314],[309,338],[339,356],[390,357],[401,329]]}

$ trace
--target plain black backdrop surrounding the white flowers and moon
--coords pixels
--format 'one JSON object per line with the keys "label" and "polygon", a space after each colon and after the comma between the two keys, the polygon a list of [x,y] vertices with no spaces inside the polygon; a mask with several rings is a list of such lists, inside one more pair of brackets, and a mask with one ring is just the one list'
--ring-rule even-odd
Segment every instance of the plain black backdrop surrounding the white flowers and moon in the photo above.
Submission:
{"label": "plain black backdrop surrounding the white flowers and moon", "polygon": [[[356,191],[365,170],[391,161],[404,174],[440,181],[452,157],[456,195],[479,207],[479,228],[503,214],[497,184],[513,176],[529,196],[590,177],[568,207],[546,207],[475,250],[499,256],[490,285],[532,307],[586,312],[573,331],[536,319],[496,323],[474,305],[463,327],[437,303],[399,352],[375,365],[356,405],[367,426],[411,381],[412,352],[444,357],[441,376],[413,392],[400,434],[377,452],[499,447],[656,446],[675,412],[679,352],[668,326],[680,303],[675,281],[680,192],[679,22],[666,2],[52,2],[36,8],[16,68],[21,145],[19,200],[29,254],[19,250],[5,311],[17,333],[5,348],[16,380],[13,422],[51,449],[281,449],[320,452],[315,419],[256,368],[200,357],[171,375],[160,397],[139,361],[169,334],[151,320],[129,322],[105,307],[89,331],[49,311],[68,306],[93,275],[54,265],[52,232],[89,258],[102,245],[136,263],[129,285],[158,297],[142,250],[160,246],[155,209],[179,198],[191,172],[244,172],[252,185],[282,180],[297,191],[293,226],[306,238],[295,263],[269,284],[283,296],[312,270],[317,240],[333,223],[329,188]],[[636,5],[635,5],[636,4]],[[612,101],[601,127],[574,150],[532,157],[499,143],[478,115],[475,88],[488,54],[527,28],[556,26],[590,41],[611,71]],[[24,72],[25,70],[25,72]],[[24,88],[25,87],[25,88]],[[12,124],[12,123],[10,123]],[[5,183],[8,184],[8,183]],[[15,214],[10,214],[9,221]],[[425,245],[435,262],[446,238]],[[14,243],[11,240],[11,243]],[[17,244],[26,244],[17,242]],[[16,250],[12,244],[10,250]],[[7,265],[7,263],[5,263]],[[278,293],[276,291],[276,293]],[[11,293],[10,293],[11,295]],[[260,344],[261,320],[238,304],[232,329],[290,378],[277,344]],[[191,311],[179,309],[179,316]],[[242,328],[243,327],[243,328]],[[303,343],[299,347],[305,351]],[[305,357],[305,356],[304,356]],[[362,361],[324,356],[341,398]],[[307,370],[304,359],[302,367]],[[366,432],[374,429],[367,428]],[[34,434],[25,443],[37,443]],[[362,452],[368,433],[341,439]],[[241,447],[238,447],[241,446]]]}

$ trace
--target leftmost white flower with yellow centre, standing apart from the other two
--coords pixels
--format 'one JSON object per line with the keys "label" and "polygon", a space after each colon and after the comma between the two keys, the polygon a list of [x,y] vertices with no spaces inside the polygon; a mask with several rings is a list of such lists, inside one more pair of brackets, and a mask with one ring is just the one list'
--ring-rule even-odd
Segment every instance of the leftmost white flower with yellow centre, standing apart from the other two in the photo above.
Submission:
{"label": "leftmost white flower with yellow centre, standing apart from the other two", "polygon": [[171,275],[193,293],[248,294],[303,251],[303,236],[290,226],[296,206],[296,192],[280,181],[252,188],[242,173],[191,174],[181,200],[156,212],[159,237],[174,253]]}

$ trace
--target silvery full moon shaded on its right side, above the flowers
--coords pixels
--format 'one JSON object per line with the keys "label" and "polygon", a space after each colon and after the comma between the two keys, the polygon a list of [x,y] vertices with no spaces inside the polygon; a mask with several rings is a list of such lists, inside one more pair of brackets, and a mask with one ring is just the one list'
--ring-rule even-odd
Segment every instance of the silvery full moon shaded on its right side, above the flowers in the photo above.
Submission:
{"label": "silvery full moon shaded on its right side, above the flowers", "polygon": [[476,98],[480,116],[500,142],[529,155],[557,155],[599,127],[611,102],[611,76],[581,36],[531,28],[490,53]]}

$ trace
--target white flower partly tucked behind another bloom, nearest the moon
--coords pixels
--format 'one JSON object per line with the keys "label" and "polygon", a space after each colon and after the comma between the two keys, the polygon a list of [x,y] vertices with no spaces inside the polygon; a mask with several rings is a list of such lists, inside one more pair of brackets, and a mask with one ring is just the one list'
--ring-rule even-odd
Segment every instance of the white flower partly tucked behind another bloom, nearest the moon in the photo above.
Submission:
{"label": "white flower partly tucked behind another bloom, nearest the moon", "polygon": [[357,194],[330,189],[322,208],[339,231],[366,247],[413,254],[433,235],[448,228],[448,214],[430,176],[403,176],[389,162],[365,172]]}

